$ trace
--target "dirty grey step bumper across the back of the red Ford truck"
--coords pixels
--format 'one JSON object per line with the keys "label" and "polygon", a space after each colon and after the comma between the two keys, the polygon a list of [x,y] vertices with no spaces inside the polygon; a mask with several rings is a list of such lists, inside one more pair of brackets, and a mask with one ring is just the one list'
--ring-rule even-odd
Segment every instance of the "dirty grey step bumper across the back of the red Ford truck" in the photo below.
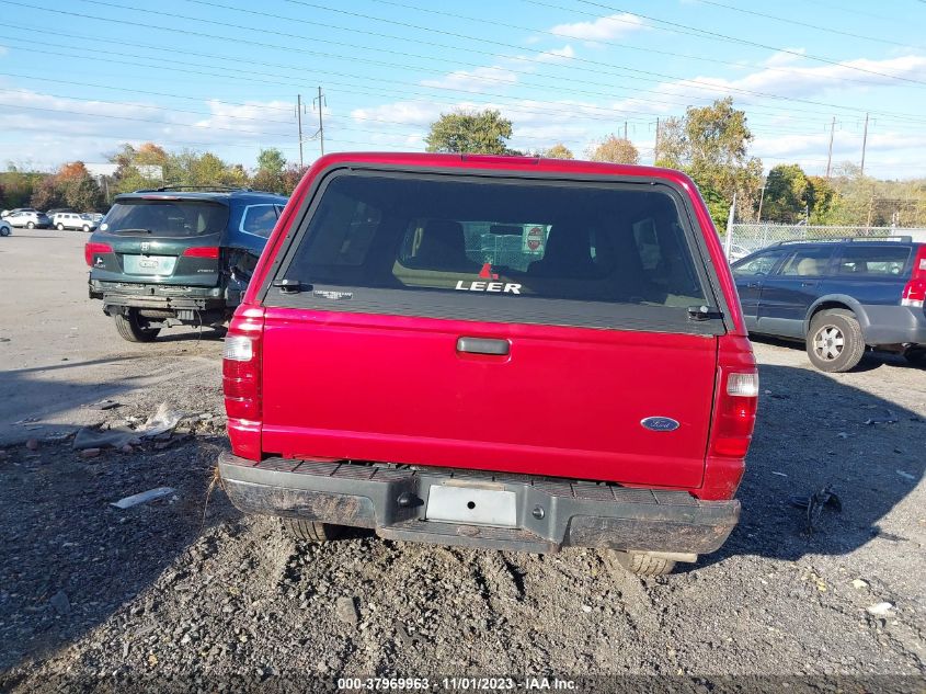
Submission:
{"label": "dirty grey step bumper across the back of the red Ford truck", "polygon": [[[219,456],[222,488],[244,513],[366,527],[387,539],[553,553],[563,546],[683,556],[714,551],[740,517],[740,502],[701,501],[683,491],[438,467]],[[508,522],[475,524],[434,515],[446,488],[464,504],[501,493]],[[441,489],[441,494],[434,489]],[[507,492],[507,493],[505,493]],[[693,559],[690,559],[693,560]]]}

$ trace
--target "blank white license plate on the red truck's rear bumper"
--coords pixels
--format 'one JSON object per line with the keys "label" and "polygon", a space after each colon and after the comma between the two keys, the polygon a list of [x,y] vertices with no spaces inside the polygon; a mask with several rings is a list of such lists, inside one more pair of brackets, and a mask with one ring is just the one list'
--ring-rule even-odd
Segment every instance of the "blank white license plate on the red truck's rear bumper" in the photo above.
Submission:
{"label": "blank white license plate on the red truck's rear bumper", "polygon": [[489,485],[432,485],[424,515],[428,521],[517,527],[517,496]]}

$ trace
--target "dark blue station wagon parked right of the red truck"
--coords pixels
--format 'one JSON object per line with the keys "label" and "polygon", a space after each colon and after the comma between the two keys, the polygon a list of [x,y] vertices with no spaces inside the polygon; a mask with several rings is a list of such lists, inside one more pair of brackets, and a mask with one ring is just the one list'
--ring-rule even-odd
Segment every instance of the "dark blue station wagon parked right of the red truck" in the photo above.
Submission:
{"label": "dark blue station wagon parked right of the red truck", "polygon": [[926,357],[926,243],[908,236],[785,241],[733,263],[751,333],[800,340],[821,371],[867,348]]}

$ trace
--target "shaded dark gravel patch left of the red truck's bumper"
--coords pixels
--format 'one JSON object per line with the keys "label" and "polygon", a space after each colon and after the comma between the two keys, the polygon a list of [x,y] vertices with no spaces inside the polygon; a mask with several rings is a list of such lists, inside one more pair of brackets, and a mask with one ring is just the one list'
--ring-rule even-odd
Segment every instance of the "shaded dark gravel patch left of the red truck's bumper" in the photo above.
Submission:
{"label": "shaded dark gravel patch left of the red truck's bumper", "polygon": [[[185,553],[212,551],[191,548],[204,524],[237,517],[218,489],[204,512],[222,444],[194,437],[82,459],[68,442],[0,457],[0,681],[4,670],[77,641],[156,582],[185,576],[182,567],[196,560],[171,567]],[[175,490],[168,499],[111,505],[164,486]]]}

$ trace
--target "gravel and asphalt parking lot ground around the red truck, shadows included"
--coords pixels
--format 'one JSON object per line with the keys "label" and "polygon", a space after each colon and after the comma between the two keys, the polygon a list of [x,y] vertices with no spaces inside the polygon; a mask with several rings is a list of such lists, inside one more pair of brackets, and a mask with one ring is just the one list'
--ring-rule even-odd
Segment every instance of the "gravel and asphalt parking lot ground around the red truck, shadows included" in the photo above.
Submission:
{"label": "gravel and asphalt parking lot ground around the red truck, shadows included", "polygon": [[[801,346],[756,343],[741,523],[664,578],[581,549],[365,532],[296,545],[214,485],[221,341],[119,339],[87,298],[85,238],[0,239],[0,689],[454,672],[896,675],[879,686],[904,687],[914,680],[900,675],[926,673],[926,371],[871,355],[826,375]],[[100,409],[106,399],[117,405]],[[71,450],[76,428],[144,421],[162,402],[192,416],[170,440]],[[810,528],[791,497],[827,486],[842,510]],[[110,505],[157,487],[174,492]]]}

